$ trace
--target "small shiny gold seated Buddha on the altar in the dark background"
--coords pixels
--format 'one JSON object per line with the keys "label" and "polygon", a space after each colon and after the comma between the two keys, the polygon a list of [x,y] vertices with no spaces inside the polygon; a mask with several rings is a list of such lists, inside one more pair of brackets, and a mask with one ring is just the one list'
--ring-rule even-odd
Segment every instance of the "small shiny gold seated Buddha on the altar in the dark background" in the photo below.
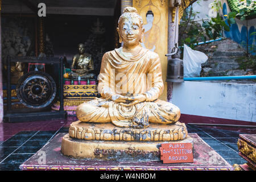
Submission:
{"label": "small shiny gold seated Buddha on the altar in the dark background", "polygon": [[85,53],[84,44],[79,44],[78,49],[79,54],[73,56],[72,71],[68,73],[68,77],[93,78],[94,74],[90,73],[94,70],[92,55]]}

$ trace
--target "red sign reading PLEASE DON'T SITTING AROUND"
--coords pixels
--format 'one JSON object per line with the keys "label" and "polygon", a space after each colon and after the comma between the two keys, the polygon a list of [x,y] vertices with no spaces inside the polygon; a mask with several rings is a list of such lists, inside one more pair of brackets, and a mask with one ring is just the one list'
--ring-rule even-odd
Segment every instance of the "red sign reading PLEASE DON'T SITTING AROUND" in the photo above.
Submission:
{"label": "red sign reading PLEASE DON'T SITTING AROUND", "polygon": [[162,143],[160,159],[163,163],[192,163],[193,151],[191,143]]}

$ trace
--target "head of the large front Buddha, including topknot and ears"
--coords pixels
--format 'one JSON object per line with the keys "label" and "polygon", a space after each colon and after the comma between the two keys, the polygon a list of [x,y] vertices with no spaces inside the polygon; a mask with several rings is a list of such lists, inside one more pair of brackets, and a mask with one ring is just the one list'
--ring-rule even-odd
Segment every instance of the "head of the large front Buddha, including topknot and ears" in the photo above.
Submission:
{"label": "head of the large front Buddha, including topknot and ears", "polygon": [[118,20],[119,43],[136,46],[143,41],[143,19],[134,7],[126,7]]}

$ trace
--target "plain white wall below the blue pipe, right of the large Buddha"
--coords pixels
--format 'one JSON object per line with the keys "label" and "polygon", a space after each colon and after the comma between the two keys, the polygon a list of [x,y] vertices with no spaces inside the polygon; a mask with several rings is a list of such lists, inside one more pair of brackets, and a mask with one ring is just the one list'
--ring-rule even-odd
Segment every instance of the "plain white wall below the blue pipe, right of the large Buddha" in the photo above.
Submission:
{"label": "plain white wall below the blue pipe, right of the large Buddha", "polygon": [[172,103],[183,114],[256,122],[256,84],[174,83]]}

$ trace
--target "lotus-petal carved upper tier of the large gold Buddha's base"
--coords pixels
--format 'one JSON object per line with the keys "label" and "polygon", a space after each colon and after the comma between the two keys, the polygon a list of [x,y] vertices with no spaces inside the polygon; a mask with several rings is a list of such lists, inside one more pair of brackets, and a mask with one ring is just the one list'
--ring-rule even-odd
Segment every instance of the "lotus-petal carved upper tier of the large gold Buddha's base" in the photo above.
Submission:
{"label": "lotus-petal carved upper tier of the large gold Buddha's base", "polygon": [[183,140],[188,131],[185,123],[170,125],[151,123],[144,129],[117,127],[112,123],[96,124],[76,121],[69,127],[69,136],[84,140],[123,140],[123,141],[174,141]]}

